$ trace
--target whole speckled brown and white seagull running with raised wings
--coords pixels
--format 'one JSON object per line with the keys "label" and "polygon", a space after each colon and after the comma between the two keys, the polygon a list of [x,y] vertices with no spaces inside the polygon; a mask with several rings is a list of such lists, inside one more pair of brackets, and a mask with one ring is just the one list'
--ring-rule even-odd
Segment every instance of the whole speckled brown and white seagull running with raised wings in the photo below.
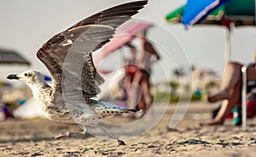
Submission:
{"label": "whole speckled brown and white seagull running with raised wings", "polygon": [[95,126],[119,145],[125,145],[119,137],[114,137],[98,123],[110,115],[138,110],[96,100],[104,79],[96,71],[91,53],[109,42],[116,28],[130,20],[147,3],[147,0],[143,0],[108,8],[45,42],[39,48],[37,57],[49,70],[52,78],[50,86],[44,81],[44,75],[36,70],[7,76],[8,79],[23,81],[32,89],[33,97],[41,104],[49,120],[76,123],[84,128],[83,132],[61,133],[55,139],[85,134],[86,126]]}

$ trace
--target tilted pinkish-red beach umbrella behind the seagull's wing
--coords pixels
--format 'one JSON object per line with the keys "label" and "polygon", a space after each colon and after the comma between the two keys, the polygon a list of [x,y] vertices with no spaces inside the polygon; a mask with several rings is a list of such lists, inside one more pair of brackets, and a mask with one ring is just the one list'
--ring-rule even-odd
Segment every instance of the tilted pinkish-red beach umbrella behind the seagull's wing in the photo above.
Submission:
{"label": "tilted pinkish-red beach umbrella behind the seagull's wing", "polygon": [[[145,21],[131,21],[125,25],[121,25],[116,35],[105,44],[102,49],[93,53],[93,59],[96,66],[105,59],[110,53],[115,52],[119,48],[122,48],[125,44],[131,42],[131,40],[136,37],[137,33],[146,31],[153,26],[152,23]],[[103,71],[103,70],[99,70]],[[103,73],[105,73],[104,70]]]}

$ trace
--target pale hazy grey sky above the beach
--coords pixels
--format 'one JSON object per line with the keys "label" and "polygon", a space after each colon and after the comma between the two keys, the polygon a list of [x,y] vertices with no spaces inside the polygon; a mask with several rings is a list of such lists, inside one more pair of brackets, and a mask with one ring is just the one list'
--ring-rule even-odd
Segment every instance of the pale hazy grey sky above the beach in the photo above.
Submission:
{"label": "pale hazy grey sky above the beach", "polygon": [[[112,7],[127,0],[0,0],[0,47],[13,48],[32,62],[31,67],[1,65],[0,78],[10,73],[34,69],[47,73],[44,64],[36,57],[41,45],[51,36],[90,14]],[[197,25],[189,31],[183,25],[166,23],[165,15],[185,3],[185,0],[149,0],[148,5],[135,19],[155,23],[148,38],[153,41],[163,59],[160,66],[171,75],[175,65],[188,68],[212,68],[220,74],[224,67],[224,26]],[[256,50],[256,28],[238,27],[231,34],[231,60],[253,60]],[[186,59],[187,58],[187,59]]]}

